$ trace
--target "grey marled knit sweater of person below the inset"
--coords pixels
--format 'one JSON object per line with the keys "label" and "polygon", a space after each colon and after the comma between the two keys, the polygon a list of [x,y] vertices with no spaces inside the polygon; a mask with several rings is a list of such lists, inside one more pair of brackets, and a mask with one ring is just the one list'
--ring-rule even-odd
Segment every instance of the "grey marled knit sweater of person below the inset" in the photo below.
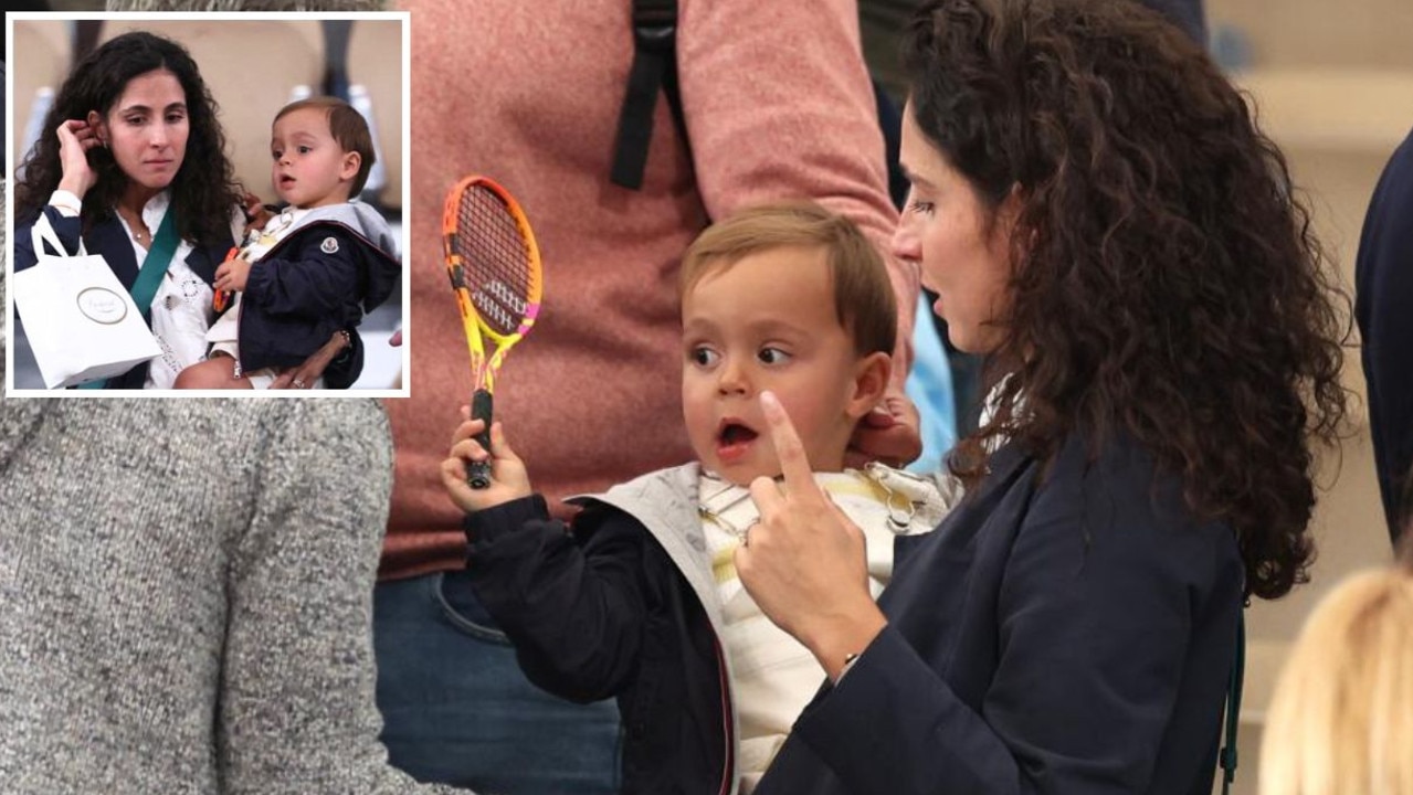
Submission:
{"label": "grey marled knit sweater of person below the inset", "polygon": [[391,456],[372,400],[0,398],[0,792],[463,794],[377,741]]}

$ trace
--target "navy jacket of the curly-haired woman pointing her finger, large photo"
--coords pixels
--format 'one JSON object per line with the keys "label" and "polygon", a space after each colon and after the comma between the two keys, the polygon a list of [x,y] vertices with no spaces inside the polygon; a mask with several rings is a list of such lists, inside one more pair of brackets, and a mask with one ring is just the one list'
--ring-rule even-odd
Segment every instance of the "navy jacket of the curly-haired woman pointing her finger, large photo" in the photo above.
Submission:
{"label": "navy jacket of the curly-haired woman pointing her finger, large photo", "polygon": [[1112,443],[1015,446],[901,537],[889,618],[756,795],[1210,795],[1243,569],[1232,531]]}

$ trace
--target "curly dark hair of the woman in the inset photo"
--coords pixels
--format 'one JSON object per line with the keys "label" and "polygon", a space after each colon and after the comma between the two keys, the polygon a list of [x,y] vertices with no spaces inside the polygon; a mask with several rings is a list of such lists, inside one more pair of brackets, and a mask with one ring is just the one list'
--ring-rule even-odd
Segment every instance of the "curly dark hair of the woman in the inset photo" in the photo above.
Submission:
{"label": "curly dark hair of the woman in the inset photo", "polygon": [[[85,119],[90,110],[107,117],[129,80],[154,69],[177,76],[187,95],[187,153],[171,182],[172,206],[179,209],[177,233],[192,243],[219,244],[230,237],[230,220],[240,192],[235,169],[226,158],[226,136],[216,120],[211,97],[196,62],[170,38],[146,31],[122,34],[81,61],[54,97],[44,117],[44,134],[24,161],[24,178],[14,186],[16,217],[32,220],[59,186],[64,168],[59,140],[54,134],[69,119]],[[97,182],[83,196],[83,229],[112,217],[127,189],[129,178],[106,148],[92,148],[89,164]]]}

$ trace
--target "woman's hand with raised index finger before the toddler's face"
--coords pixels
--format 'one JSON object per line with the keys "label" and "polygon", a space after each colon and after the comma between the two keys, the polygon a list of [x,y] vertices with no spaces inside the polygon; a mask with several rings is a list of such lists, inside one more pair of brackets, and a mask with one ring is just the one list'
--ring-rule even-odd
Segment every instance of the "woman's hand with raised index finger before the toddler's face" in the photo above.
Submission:
{"label": "woman's hand with raised index finger before the toddler's face", "polygon": [[760,610],[803,642],[831,679],[887,624],[869,593],[863,532],[820,490],[804,445],[774,394],[760,407],[783,487],[769,477],[750,483],[760,521],[736,548],[736,573]]}

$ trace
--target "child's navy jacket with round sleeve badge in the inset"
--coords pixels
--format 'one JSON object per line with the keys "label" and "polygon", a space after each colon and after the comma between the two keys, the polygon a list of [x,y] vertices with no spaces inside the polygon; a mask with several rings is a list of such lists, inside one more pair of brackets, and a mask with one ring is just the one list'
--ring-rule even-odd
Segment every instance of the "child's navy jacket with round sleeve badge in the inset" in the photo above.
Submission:
{"label": "child's navy jacket with round sleeve badge in the inset", "polygon": [[[393,294],[401,265],[357,230],[331,219],[311,220],[250,267],[240,304],[240,366],[294,367],[353,330],[363,312]],[[357,335],[350,335],[357,339]],[[325,374],[332,388],[352,385],[363,369]]]}

